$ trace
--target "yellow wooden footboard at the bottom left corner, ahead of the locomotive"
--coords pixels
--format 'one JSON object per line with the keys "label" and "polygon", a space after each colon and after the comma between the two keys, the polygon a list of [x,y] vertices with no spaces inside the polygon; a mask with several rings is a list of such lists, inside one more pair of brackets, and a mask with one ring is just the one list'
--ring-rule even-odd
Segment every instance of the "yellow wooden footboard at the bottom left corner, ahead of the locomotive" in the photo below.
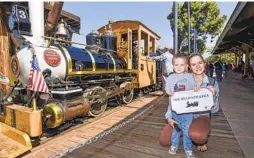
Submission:
{"label": "yellow wooden footboard at the bottom left corner, ahead of the locomotive", "polygon": [[29,136],[0,122],[0,158],[14,158],[32,149]]}

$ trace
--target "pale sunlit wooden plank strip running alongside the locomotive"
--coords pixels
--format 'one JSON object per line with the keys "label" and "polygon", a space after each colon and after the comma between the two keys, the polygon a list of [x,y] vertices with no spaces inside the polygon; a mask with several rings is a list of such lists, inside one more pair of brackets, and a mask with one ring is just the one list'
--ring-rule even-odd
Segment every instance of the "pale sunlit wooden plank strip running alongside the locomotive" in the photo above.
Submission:
{"label": "pale sunlit wooden plank strip running alongside the locomotive", "polygon": [[128,117],[146,107],[161,95],[162,93],[157,91],[143,97],[138,97],[130,104],[110,108],[101,117],[85,119],[82,124],[71,126],[56,136],[42,137],[35,144],[35,147],[29,153],[22,155],[22,157],[44,158],[57,155],[59,152],[77,146],[103,131],[114,127],[119,122],[128,119]]}

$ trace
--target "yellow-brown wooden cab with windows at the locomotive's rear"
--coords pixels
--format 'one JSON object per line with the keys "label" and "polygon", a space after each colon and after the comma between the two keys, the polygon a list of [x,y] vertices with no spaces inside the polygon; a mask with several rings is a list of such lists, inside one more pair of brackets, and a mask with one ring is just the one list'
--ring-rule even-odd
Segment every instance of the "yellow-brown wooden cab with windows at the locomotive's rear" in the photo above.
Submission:
{"label": "yellow-brown wooden cab with windows at the locomotive's rear", "polygon": [[[106,33],[106,26],[98,29],[100,35]],[[116,52],[127,62],[128,70],[137,70],[134,86],[138,89],[156,85],[156,62],[147,59],[156,51],[156,41],[160,36],[139,21],[116,21],[110,23],[116,34]]]}

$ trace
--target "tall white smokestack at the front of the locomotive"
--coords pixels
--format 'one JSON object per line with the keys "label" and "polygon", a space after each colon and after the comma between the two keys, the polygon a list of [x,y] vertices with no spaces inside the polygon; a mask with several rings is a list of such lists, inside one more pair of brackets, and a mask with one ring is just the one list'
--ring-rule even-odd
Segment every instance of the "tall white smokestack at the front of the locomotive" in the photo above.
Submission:
{"label": "tall white smokestack at the front of the locomotive", "polygon": [[36,39],[36,44],[41,44],[44,36],[44,2],[29,1],[29,16],[31,22],[31,32]]}

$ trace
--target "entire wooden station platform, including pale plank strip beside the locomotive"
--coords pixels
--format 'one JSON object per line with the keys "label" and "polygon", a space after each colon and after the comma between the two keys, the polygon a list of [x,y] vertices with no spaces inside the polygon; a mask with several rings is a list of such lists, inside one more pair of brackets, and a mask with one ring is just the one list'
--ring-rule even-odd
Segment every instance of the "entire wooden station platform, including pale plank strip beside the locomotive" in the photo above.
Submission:
{"label": "entire wooden station platform, including pale plank strip beside the locomotive", "polygon": [[[222,110],[212,116],[208,151],[200,152],[193,146],[197,158],[254,157],[253,94],[254,84],[243,82],[238,75],[220,83]],[[155,92],[137,98],[129,105],[119,107],[120,110],[50,140],[25,157],[186,157],[182,144],[177,154],[171,156],[169,147],[158,143],[168,106],[168,97],[161,96],[161,92]]]}

